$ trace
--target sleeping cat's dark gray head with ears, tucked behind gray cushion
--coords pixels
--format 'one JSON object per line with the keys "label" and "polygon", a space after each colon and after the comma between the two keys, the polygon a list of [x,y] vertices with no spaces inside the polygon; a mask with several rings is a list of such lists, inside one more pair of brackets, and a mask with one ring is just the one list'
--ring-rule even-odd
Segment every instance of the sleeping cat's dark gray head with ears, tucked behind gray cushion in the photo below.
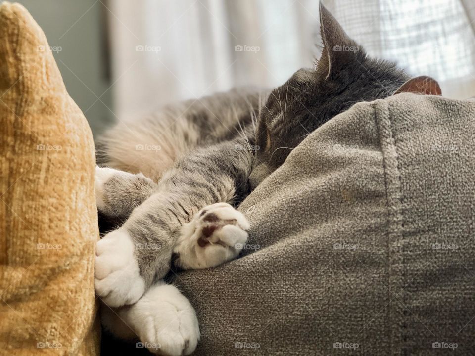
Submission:
{"label": "sleeping cat's dark gray head with ears, tucked behind gray cushion", "polygon": [[306,135],[337,114],[360,101],[411,91],[422,80],[406,82],[409,76],[394,63],[369,57],[321,3],[320,26],[323,51],[314,68],[295,72],[260,110],[252,187],[281,166]]}

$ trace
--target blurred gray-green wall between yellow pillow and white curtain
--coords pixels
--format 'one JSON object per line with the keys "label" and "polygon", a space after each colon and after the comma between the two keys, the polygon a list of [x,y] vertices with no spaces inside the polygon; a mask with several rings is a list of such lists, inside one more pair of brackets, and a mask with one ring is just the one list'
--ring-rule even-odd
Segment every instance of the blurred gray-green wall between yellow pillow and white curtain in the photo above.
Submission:
{"label": "blurred gray-green wall between yellow pillow and white curtain", "polygon": [[93,134],[114,118],[106,39],[107,9],[97,0],[16,0],[46,34],[69,95]]}

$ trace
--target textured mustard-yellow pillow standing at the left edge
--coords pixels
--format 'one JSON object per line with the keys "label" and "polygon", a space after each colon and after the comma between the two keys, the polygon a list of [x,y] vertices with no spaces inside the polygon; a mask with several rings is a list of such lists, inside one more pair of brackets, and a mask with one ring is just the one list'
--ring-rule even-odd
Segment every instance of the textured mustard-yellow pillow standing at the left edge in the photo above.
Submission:
{"label": "textured mustard-yellow pillow standing at the left edge", "polygon": [[0,6],[0,355],[98,355],[94,143],[48,48]]}

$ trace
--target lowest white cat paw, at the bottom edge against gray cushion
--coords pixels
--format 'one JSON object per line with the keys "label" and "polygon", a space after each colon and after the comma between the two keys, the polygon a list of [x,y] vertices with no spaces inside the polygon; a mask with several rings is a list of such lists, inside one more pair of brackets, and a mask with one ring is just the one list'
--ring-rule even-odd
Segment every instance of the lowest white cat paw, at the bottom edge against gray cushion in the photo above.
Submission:
{"label": "lowest white cat paw, at the bottom edge against gray cushion", "polygon": [[142,345],[160,355],[190,355],[199,340],[198,319],[190,302],[173,285],[152,286],[126,311]]}

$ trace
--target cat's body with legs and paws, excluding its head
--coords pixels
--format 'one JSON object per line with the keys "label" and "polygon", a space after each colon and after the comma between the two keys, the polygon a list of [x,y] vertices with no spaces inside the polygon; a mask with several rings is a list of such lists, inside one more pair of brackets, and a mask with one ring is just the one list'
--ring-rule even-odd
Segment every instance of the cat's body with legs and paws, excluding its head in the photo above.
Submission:
{"label": "cat's body with legs and paws, excluding its head", "polygon": [[[113,334],[139,338],[149,350],[170,355],[189,354],[196,347],[194,310],[160,279],[172,264],[219,265],[234,258],[240,251],[235,246],[245,243],[246,219],[219,203],[238,204],[250,191],[252,133],[265,98],[260,90],[235,89],[190,100],[118,124],[98,140],[98,164],[111,167],[96,171],[99,215],[125,223],[98,244],[96,292],[111,307],[133,304],[114,311],[103,308],[102,323]],[[199,216],[200,210],[205,214]],[[203,242],[215,246],[200,247],[202,236],[193,236],[197,230],[211,241]],[[221,239],[223,231],[231,240]],[[194,254],[195,247],[204,254]],[[124,263],[118,266],[117,261]],[[114,290],[114,282],[120,291]]]}

